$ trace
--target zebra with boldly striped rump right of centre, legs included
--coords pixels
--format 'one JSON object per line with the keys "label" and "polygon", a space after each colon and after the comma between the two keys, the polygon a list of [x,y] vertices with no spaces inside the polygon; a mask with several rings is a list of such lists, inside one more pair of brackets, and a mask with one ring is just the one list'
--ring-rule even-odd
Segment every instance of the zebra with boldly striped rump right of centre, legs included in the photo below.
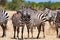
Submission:
{"label": "zebra with boldly striped rump right of centre, legs included", "polygon": [[[40,31],[41,31],[41,26],[43,28],[43,35],[45,37],[45,34],[44,34],[44,25],[45,25],[45,17],[44,17],[44,14],[43,13],[36,13],[35,15],[32,14],[31,15],[31,33],[32,33],[32,29],[33,29],[33,26],[37,26],[37,29],[38,29],[38,36],[37,38],[39,38],[39,34],[40,34]],[[33,35],[33,33],[32,33]],[[32,36],[33,37],[33,36]]]}

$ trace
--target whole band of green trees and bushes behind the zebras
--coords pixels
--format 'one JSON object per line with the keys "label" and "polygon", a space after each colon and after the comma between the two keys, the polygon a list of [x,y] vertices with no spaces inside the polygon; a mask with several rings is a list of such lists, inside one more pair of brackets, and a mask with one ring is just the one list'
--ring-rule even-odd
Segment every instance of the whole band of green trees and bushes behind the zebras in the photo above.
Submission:
{"label": "whole band of green trees and bushes behind the zebras", "polygon": [[26,2],[25,0],[12,0],[11,2],[7,2],[7,0],[0,1],[0,5],[3,5],[7,10],[19,10],[22,6],[30,6],[34,9],[44,10],[45,7],[50,7],[51,9],[60,8],[60,2]]}

